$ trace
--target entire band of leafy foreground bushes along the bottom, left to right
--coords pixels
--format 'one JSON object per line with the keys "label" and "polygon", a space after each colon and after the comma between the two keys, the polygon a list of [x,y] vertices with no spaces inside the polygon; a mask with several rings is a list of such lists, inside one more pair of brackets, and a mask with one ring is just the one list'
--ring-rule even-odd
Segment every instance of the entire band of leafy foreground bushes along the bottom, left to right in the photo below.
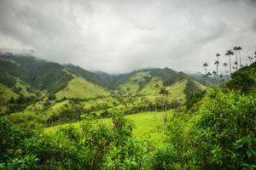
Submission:
{"label": "entire band of leafy foreground bushes along the bottom, left to right", "polygon": [[256,99],[227,89],[196,96],[169,119],[165,143],[132,135],[120,112],[112,126],[86,116],[82,126],[45,133],[0,119],[3,169],[254,169]]}

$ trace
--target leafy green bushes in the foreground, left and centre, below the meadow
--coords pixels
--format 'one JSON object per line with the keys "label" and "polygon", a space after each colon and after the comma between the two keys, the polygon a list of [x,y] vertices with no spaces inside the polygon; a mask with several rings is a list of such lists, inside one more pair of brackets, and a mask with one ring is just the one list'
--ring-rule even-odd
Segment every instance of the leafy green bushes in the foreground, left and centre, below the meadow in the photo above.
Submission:
{"label": "leafy green bushes in the foreground, left and centre, below the meadow", "polygon": [[0,125],[1,169],[141,169],[150,148],[132,136],[133,124],[119,113],[113,127],[89,120],[82,131],[29,131],[5,119]]}

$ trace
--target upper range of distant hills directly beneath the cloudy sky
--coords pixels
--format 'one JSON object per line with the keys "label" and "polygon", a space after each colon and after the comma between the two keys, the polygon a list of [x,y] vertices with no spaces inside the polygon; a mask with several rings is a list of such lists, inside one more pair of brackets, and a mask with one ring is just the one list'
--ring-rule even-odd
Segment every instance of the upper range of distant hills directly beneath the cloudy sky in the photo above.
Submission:
{"label": "upper range of distant hills directly beneath the cloudy sky", "polygon": [[124,96],[148,95],[152,98],[159,95],[156,84],[170,90],[172,86],[181,85],[183,88],[180,87],[179,90],[172,89],[173,96],[196,93],[203,87],[196,78],[169,68],[109,75],[21,54],[0,54],[0,61],[0,83],[3,85],[14,92],[15,88],[21,86],[19,92],[27,95],[33,94],[34,91],[46,91],[48,94],[55,94],[57,99],[93,99],[113,93]]}

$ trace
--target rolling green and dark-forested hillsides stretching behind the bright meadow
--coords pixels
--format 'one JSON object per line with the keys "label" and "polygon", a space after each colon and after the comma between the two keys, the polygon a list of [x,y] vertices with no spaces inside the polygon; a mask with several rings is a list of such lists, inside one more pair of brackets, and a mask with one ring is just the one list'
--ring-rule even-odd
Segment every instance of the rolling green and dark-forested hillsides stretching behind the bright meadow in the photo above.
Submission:
{"label": "rolling green and dark-forested hillsides stretching behind the bright meadow", "polygon": [[[2,54],[0,59],[6,98],[1,114],[9,114],[9,120],[22,126],[49,127],[81,121],[83,116],[109,117],[113,108],[125,115],[167,111],[183,105],[187,96],[207,90],[193,77],[169,68],[112,76],[31,56]],[[168,93],[160,94],[161,89]],[[69,118],[60,116],[64,111]]]}

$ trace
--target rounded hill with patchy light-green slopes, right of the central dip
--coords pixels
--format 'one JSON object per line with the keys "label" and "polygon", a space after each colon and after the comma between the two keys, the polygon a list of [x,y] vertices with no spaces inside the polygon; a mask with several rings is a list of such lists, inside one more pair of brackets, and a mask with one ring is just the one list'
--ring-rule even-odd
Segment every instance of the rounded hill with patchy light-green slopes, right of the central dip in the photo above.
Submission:
{"label": "rounded hill with patchy light-green slopes, right of the central dip", "polygon": [[[169,94],[160,94],[161,88],[165,88]],[[207,89],[199,82],[195,82],[183,72],[171,69],[146,69],[134,71],[125,75],[119,82],[115,92],[121,96],[125,105],[168,105],[184,103],[187,96],[197,94]],[[149,106],[150,107],[150,106]]]}

